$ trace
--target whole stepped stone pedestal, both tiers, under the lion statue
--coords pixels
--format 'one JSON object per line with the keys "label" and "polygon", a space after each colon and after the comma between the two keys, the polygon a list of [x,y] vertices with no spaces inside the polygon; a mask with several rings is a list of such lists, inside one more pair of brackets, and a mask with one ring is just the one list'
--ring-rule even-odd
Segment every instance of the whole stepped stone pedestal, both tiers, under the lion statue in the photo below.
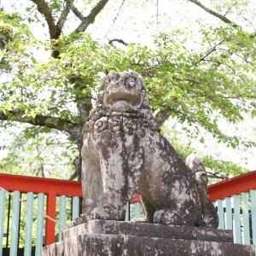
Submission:
{"label": "whole stepped stone pedestal, both tiers, under the lion statue", "polygon": [[65,230],[43,256],[221,255],[254,256],[254,246],[233,243],[231,230],[92,220]]}

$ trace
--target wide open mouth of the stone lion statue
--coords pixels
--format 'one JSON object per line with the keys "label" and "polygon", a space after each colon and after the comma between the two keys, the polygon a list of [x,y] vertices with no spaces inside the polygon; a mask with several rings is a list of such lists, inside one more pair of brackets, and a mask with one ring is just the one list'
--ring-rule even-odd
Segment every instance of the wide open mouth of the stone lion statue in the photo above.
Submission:
{"label": "wide open mouth of the stone lion statue", "polygon": [[106,103],[108,106],[130,106],[135,107],[139,106],[142,102],[142,94],[141,93],[133,93],[131,91],[110,91],[108,95],[106,95]]}

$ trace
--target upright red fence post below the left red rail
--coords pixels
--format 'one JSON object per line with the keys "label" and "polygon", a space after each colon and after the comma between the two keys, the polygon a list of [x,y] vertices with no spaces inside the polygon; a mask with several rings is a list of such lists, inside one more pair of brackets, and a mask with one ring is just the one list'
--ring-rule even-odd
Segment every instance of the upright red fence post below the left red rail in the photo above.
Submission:
{"label": "upright red fence post below the left red rail", "polygon": [[[55,208],[56,208],[56,194],[54,192],[49,192],[47,195],[47,206],[46,214],[50,218],[55,219]],[[46,218],[45,223],[45,245],[55,243],[55,222]]]}

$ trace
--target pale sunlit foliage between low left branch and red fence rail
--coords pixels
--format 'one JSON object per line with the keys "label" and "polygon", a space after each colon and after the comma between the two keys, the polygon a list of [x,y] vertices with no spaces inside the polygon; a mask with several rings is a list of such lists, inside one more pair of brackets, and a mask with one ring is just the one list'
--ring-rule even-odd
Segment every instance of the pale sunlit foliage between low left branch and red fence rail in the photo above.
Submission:
{"label": "pale sunlit foliage between low left branch and red fence rail", "polygon": [[28,126],[20,137],[1,148],[9,149],[8,157],[0,163],[2,173],[67,179],[75,171],[71,160],[77,157],[77,148],[57,131]]}

